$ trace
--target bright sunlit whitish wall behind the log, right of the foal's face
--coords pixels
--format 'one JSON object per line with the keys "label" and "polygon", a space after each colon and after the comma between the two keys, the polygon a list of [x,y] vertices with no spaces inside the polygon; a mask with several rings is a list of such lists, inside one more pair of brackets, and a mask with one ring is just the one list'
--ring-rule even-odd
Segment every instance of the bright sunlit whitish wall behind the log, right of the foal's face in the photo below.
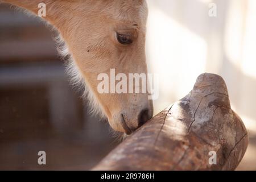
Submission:
{"label": "bright sunlit whitish wall behind the log, right of the foal's face", "polygon": [[[155,114],[184,97],[201,73],[216,73],[226,81],[233,110],[256,134],[256,1],[147,2],[147,60],[160,78]],[[210,3],[217,16],[209,16]],[[248,150],[256,161],[255,152]]]}

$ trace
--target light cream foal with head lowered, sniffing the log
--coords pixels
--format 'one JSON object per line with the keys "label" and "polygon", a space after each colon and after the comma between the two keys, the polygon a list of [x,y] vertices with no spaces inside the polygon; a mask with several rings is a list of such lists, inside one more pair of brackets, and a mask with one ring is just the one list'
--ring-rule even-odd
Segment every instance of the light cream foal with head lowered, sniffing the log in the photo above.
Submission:
{"label": "light cream foal with head lowered, sniffing the log", "polygon": [[[1,1],[1,0],[0,0]],[[73,81],[86,85],[95,110],[102,111],[116,131],[132,133],[152,117],[148,94],[100,94],[97,76],[147,73],[144,0],[4,0],[38,14],[46,4],[46,17],[60,34],[63,55],[69,55]]]}

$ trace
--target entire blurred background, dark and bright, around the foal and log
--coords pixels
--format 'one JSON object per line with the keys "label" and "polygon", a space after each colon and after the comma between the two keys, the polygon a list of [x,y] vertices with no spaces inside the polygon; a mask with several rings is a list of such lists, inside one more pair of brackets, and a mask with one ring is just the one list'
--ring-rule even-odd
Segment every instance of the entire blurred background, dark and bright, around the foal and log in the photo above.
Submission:
{"label": "entire blurred background, dark and bright, around the foal and log", "polygon": [[[159,74],[155,114],[184,97],[201,73],[224,77],[249,131],[237,169],[256,170],[256,1],[147,0],[146,54]],[[208,15],[210,3],[217,16]],[[68,82],[54,32],[0,5],[0,169],[89,169],[118,143]],[[47,153],[38,165],[37,152]]]}

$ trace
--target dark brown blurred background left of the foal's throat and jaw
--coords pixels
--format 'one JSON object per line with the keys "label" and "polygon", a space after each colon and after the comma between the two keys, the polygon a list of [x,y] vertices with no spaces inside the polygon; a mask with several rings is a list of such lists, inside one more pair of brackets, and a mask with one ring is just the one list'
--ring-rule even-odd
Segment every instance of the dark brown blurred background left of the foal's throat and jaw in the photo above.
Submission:
{"label": "dark brown blurred background left of the foal's throat and jaw", "polygon": [[69,85],[55,36],[0,5],[0,169],[90,169],[118,143]]}

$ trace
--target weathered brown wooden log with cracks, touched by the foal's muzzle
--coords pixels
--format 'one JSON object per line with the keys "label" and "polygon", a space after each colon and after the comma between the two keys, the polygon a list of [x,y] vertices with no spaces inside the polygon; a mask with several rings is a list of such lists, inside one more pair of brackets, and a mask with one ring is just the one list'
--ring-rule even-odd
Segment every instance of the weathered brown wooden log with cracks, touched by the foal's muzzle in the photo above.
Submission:
{"label": "weathered brown wooden log with cracks, touched by the foal's muzzle", "polygon": [[224,80],[204,73],[187,96],[148,121],[93,170],[233,170],[247,143]]}

